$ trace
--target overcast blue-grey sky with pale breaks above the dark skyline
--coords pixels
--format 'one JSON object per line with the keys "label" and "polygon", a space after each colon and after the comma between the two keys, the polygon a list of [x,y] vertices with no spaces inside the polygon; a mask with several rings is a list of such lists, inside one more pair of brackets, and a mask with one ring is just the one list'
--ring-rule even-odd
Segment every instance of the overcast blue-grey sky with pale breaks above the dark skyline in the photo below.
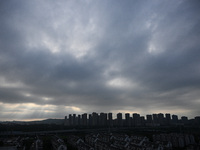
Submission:
{"label": "overcast blue-grey sky with pale breaks above the dark skyline", "polygon": [[200,115],[199,0],[1,0],[0,121]]}

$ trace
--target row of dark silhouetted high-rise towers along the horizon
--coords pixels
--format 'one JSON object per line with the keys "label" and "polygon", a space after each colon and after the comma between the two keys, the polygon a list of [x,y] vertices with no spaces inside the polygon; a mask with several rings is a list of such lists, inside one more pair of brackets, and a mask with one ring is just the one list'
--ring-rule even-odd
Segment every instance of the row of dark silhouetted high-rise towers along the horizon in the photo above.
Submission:
{"label": "row of dark silhouetted high-rise towers along the horizon", "polygon": [[137,127],[137,126],[166,126],[175,124],[194,124],[200,125],[200,116],[188,120],[188,117],[182,116],[180,119],[177,115],[169,113],[163,114],[148,114],[146,118],[140,116],[138,113],[126,113],[123,118],[122,113],[118,113],[116,118],[113,119],[112,113],[84,113],[82,115],[69,114],[65,116],[66,126],[99,126],[99,127]]}

